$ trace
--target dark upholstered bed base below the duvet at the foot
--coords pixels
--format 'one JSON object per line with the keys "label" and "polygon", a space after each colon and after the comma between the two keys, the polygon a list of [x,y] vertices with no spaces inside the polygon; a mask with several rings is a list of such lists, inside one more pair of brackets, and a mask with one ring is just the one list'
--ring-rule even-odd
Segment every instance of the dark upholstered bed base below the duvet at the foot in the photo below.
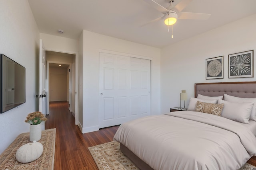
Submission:
{"label": "dark upholstered bed base below the duvet at the foot", "polygon": [[120,150],[138,167],[140,170],[154,170],[148,164],[146,164],[143,160],[141,160],[136,154],[134,154],[130,149],[125,147],[122,143],[120,143]]}

